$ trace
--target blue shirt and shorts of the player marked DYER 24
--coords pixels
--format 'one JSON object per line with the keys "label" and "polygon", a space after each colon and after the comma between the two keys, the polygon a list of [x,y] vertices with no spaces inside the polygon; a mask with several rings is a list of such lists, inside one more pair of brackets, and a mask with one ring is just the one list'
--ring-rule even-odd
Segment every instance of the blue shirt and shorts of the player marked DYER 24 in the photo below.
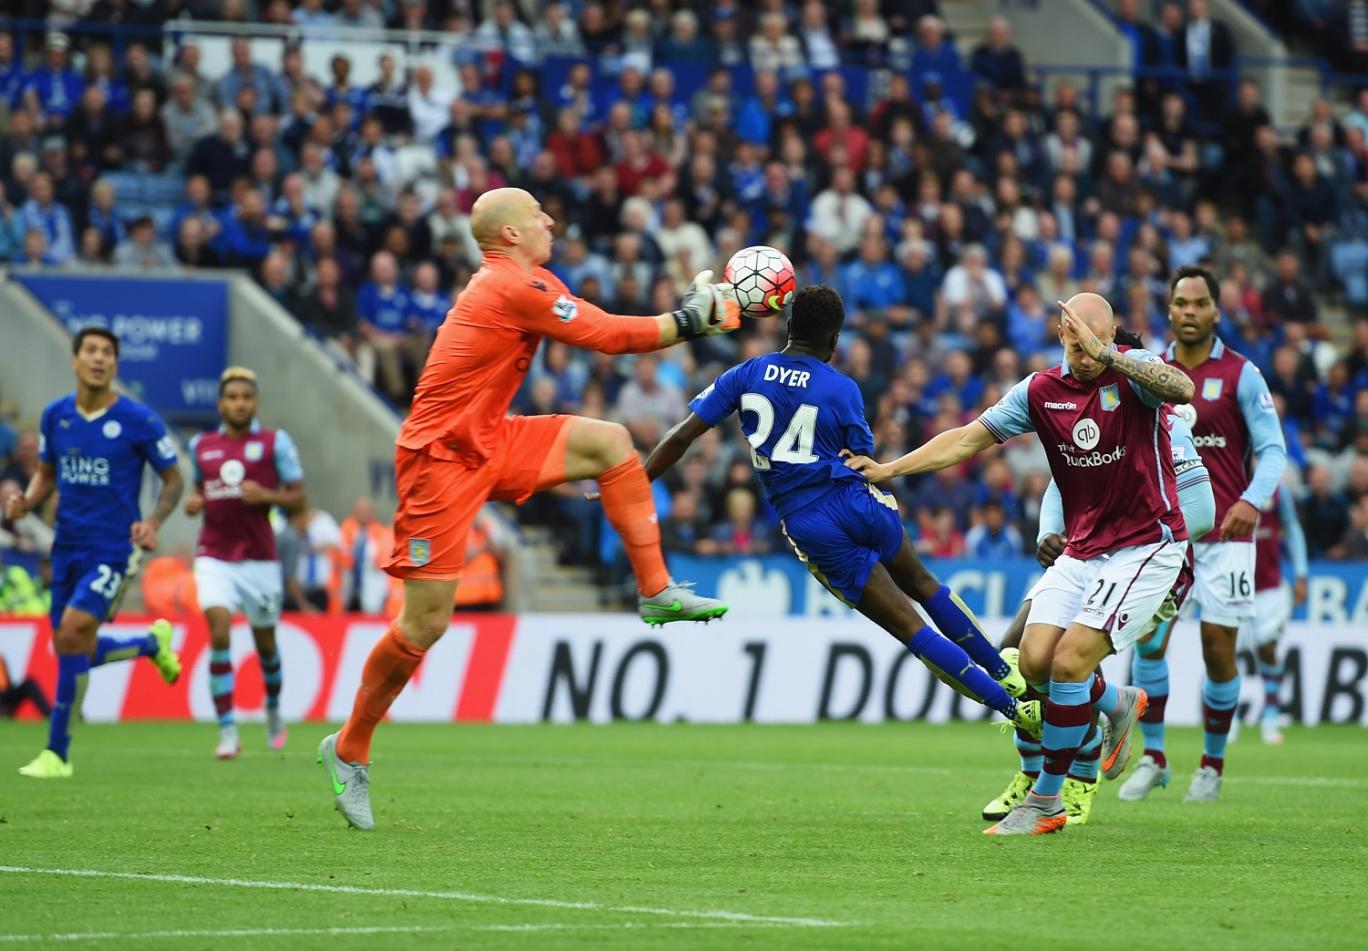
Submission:
{"label": "blue shirt and shorts of the player marked DYER 24", "polygon": [[740,413],[751,464],[793,551],[847,605],[903,545],[891,495],[847,468],[874,452],[859,387],[817,357],[767,353],[722,374],[689,409],[709,426]]}

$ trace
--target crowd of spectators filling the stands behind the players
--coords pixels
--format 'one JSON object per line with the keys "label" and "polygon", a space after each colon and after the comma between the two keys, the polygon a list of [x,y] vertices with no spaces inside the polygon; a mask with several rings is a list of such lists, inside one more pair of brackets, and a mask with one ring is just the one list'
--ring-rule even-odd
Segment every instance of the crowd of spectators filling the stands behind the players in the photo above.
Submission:
{"label": "crowd of spectators filling the stands behind the players", "polygon": [[[1163,349],[1166,275],[1209,263],[1222,337],[1275,394],[1313,557],[1368,557],[1368,86],[1276,129],[1205,0],[1112,5],[1135,75],[1097,111],[1033,78],[1005,21],[959,45],[934,0],[25,5],[75,26],[0,33],[0,261],[250,268],[402,406],[479,264],[472,201],[518,185],[557,220],[551,270],[611,312],[672,309],[751,244],[836,286],[840,368],[881,457],[1057,363],[1053,301],[1079,290]],[[1368,23],[1363,3],[1287,5],[1297,23]],[[193,33],[79,29],[181,14],[297,31],[271,64],[235,36],[207,74]],[[345,55],[309,74],[301,44],[346,26],[442,34],[408,34],[404,64],[380,49],[364,86]],[[1347,36],[1337,62],[1361,62]],[[182,197],[129,213],[130,172]],[[550,343],[517,409],[617,419],[648,449],[717,372],[781,345],[782,320],[659,356]],[[669,547],[778,547],[743,449],[710,434],[658,487]],[[895,490],[925,553],[995,558],[1033,550],[1047,480],[1018,439]],[[568,560],[611,566],[583,488],[523,517],[562,528]]]}

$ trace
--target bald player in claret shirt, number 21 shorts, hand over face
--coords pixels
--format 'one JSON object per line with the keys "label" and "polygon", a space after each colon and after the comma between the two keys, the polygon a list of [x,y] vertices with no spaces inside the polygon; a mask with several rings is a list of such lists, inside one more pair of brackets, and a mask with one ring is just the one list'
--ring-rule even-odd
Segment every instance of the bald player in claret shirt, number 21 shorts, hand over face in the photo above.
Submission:
{"label": "bald player in claret shirt, number 21 shorts, hand over face", "polygon": [[1094,709],[1109,727],[1101,769],[1108,779],[1124,770],[1145,691],[1118,688],[1094,670],[1149,634],[1187,556],[1164,404],[1192,400],[1192,380],[1152,353],[1116,350],[1105,298],[1077,294],[1060,309],[1062,365],[1031,374],[973,423],[902,458],[847,461],[870,482],[884,482],[958,465],[1023,432],[1034,431],[1045,449],[1068,545],[1031,588],[1021,644],[1026,680],[1049,681],[1044,764],[1026,799],[989,835],[1064,826],[1064,779]]}

